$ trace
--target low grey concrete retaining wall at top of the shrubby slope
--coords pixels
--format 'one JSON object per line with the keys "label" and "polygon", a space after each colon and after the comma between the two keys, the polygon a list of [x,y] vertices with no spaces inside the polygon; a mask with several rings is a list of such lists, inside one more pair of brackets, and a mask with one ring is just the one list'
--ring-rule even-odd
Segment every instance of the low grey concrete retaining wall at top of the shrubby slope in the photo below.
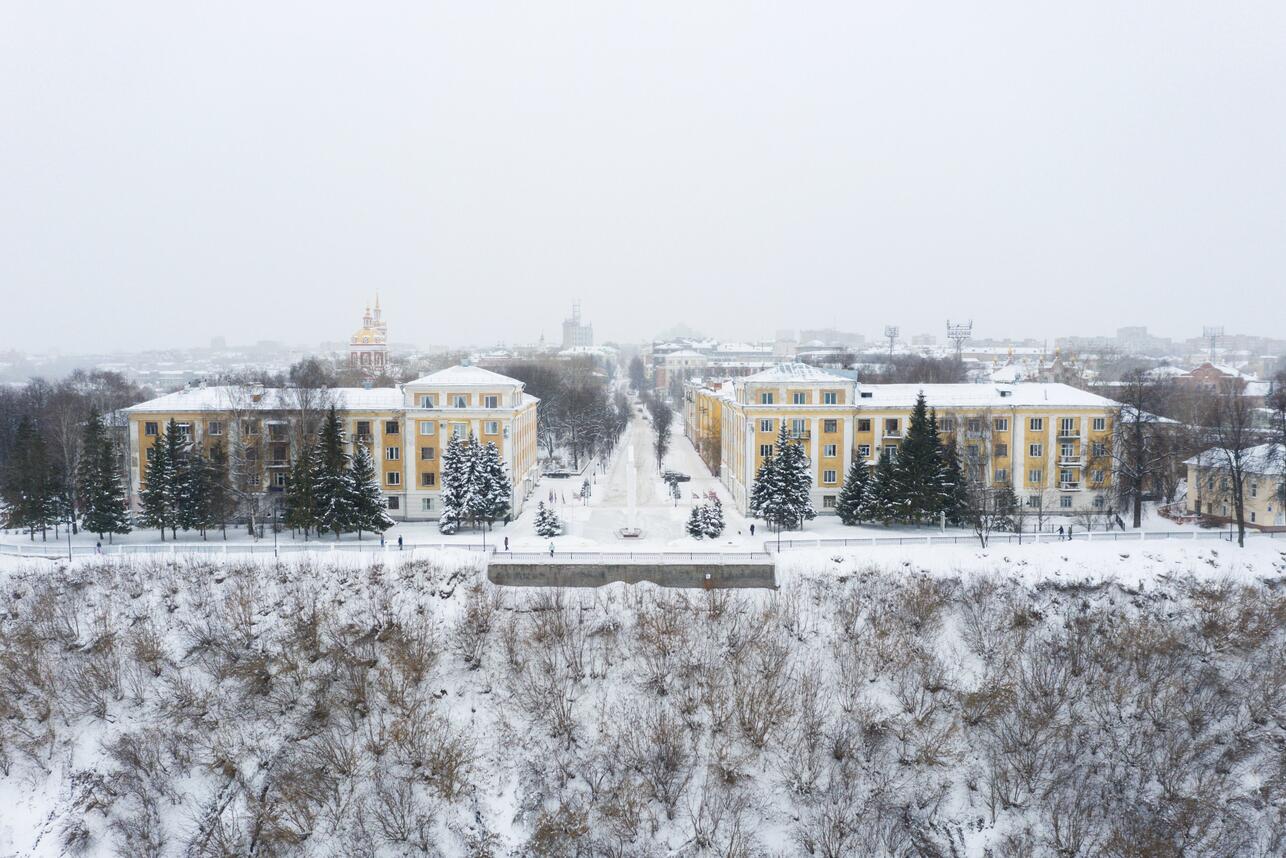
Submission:
{"label": "low grey concrete retaining wall at top of the shrubby slope", "polygon": [[[602,587],[651,581],[660,587],[773,588],[772,563],[507,563],[493,561],[487,579],[503,587]],[[707,578],[709,576],[709,578]]]}

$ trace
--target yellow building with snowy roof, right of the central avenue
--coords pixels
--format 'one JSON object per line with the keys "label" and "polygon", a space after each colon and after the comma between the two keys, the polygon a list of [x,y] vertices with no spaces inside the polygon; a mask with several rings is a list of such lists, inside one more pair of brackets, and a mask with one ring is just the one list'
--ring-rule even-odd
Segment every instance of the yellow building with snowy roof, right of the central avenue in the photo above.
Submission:
{"label": "yellow building with snowy roof, right of the central avenue", "polygon": [[697,450],[718,444],[719,477],[745,512],[784,422],[811,463],[813,506],[828,512],[853,457],[874,466],[885,450],[896,455],[921,392],[972,480],[1011,486],[1020,503],[1049,515],[1112,508],[1116,403],[1067,385],[863,385],[781,364],[718,388],[689,385],[685,431]]}

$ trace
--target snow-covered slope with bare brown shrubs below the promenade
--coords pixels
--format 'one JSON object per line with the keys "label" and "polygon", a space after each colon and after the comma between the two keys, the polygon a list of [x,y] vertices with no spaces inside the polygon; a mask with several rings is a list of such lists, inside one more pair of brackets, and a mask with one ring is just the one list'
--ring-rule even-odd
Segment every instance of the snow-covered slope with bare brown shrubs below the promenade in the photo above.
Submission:
{"label": "snow-covered slope with bare brown shrubs below the promenade", "polygon": [[1272,548],[799,552],[777,592],[0,558],[0,855],[1267,858]]}

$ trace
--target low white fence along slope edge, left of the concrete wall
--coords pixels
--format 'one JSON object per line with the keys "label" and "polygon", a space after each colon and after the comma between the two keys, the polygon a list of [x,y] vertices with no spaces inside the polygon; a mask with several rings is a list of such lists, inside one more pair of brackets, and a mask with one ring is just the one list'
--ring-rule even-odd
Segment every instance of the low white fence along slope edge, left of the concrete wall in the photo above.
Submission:
{"label": "low white fence along slope edge, left of the concrete wall", "polygon": [[149,544],[130,544],[125,543],[121,545],[104,544],[102,552],[94,545],[76,544],[68,548],[67,544],[59,545],[57,543],[0,543],[0,556],[8,557],[44,557],[48,560],[58,560],[59,557],[66,558],[68,553],[72,557],[93,557],[95,554],[102,554],[104,557],[123,557],[123,556],[149,556],[149,557],[171,557],[177,554],[202,554],[202,556],[225,556],[225,554],[302,554],[305,552],[319,552],[327,553],[345,553],[345,554],[395,554],[399,551],[466,551],[466,552],[493,552],[494,545],[486,545],[484,548],[482,543],[404,543],[400,548],[396,542],[386,542],[383,545],[379,544],[378,539],[370,540],[358,540],[358,542],[333,542],[328,543],[324,539],[315,539],[311,542],[289,540],[278,542],[276,545],[273,540],[261,540],[255,543],[242,543],[233,542],[225,543],[219,542],[204,542],[204,543],[149,543]]}

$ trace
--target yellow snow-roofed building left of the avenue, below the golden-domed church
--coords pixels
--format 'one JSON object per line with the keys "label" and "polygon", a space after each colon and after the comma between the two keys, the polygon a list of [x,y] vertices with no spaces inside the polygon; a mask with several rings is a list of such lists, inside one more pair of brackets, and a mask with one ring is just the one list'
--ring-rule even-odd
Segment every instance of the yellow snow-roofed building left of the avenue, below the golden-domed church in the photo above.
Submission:
{"label": "yellow snow-roofed building left of the avenue, below the golden-domed church", "polygon": [[125,409],[130,506],[139,508],[148,457],[171,419],[207,455],[222,445],[235,462],[239,489],[271,504],[285,491],[294,455],[333,405],[351,449],[358,444],[370,449],[394,518],[424,521],[441,515],[441,454],[451,436],[496,445],[517,516],[539,479],[538,401],[522,382],[481,367],[451,367],[400,387],[307,392],[251,385],[190,387]]}

